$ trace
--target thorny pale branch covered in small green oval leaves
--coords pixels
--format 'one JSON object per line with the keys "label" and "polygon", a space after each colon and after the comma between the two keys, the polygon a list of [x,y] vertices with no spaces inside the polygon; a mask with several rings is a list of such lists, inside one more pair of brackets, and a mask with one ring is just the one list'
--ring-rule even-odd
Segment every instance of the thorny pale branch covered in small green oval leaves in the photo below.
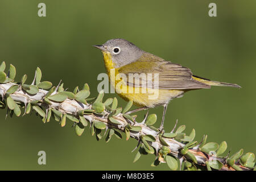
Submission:
{"label": "thorny pale branch covered in small green oval leaves", "polygon": [[[154,154],[155,161],[151,166],[158,166],[160,163],[167,163],[172,170],[253,170],[255,169],[255,156],[251,152],[243,154],[243,150],[232,156],[222,156],[226,151],[227,144],[209,142],[206,143],[207,135],[202,141],[194,141],[195,130],[185,135],[182,125],[170,133],[160,133],[154,126],[156,115],[148,113],[141,123],[136,121],[137,115],[129,115],[127,111],[133,105],[128,102],[124,109],[117,107],[117,98],[108,98],[102,102],[104,93],[101,91],[97,98],[88,98],[90,95],[89,86],[85,84],[79,90],[78,86],[73,92],[64,90],[63,84],[53,86],[49,81],[41,81],[42,72],[36,69],[35,78],[32,84],[25,84],[27,75],[22,77],[20,82],[15,82],[16,69],[10,65],[6,76],[5,62],[0,65],[0,107],[5,109],[7,115],[21,115],[34,110],[43,123],[49,122],[53,117],[60,122],[61,127],[65,126],[66,119],[71,120],[75,126],[77,135],[81,135],[86,126],[90,127],[92,135],[99,140],[106,135],[106,142],[115,135],[122,138],[125,133],[126,140],[134,138],[138,140],[137,154],[134,162],[141,155]],[[24,115],[23,114],[23,115]],[[7,116],[6,115],[6,116]],[[89,125],[88,125],[89,124]],[[230,153],[230,152],[229,152]]]}

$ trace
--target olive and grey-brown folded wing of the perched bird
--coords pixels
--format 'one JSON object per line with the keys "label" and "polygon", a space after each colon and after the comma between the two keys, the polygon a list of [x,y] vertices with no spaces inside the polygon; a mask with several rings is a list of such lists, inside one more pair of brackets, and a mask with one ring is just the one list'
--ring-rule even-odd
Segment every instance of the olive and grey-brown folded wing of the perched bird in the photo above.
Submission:
{"label": "olive and grey-brown folded wing of the perched bird", "polygon": [[125,75],[127,85],[167,90],[210,88],[192,78],[190,69],[147,54],[141,59],[118,69]]}

